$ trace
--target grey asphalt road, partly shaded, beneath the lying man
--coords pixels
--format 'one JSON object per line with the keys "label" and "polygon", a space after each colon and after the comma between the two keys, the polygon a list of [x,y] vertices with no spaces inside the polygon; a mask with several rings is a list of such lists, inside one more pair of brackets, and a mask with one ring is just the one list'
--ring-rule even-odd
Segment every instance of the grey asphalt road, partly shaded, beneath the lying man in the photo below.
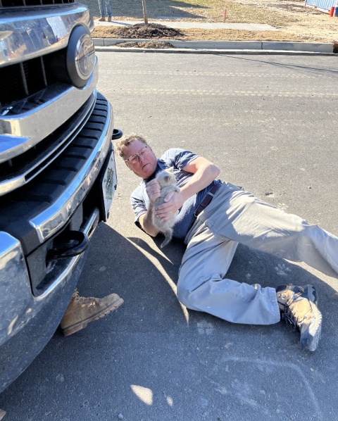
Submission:
{"label": "grey asphalt road, partly shaded, beneath the lying man", "polygon": [[[115,127],[213,161],[221,178],[338,234],[336,57],[100,53]],[[283,322],[232,325],[175,297],[184,251],[134,226],[137,178],[117,161],[108,224],[92,239],[80,294],[125,303],[73,336],[56,332],[0,396],[6,421],[338,420],[337,279],[239,246],[229,277],[313,283],[317,351]]]}

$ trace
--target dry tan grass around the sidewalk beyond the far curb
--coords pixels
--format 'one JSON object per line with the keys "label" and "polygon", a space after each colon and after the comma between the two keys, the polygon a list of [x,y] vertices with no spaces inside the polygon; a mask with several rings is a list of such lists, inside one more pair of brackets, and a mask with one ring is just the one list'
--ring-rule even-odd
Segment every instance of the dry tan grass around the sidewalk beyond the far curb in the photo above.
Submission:
{"label": "dry tan grass around the sidewalk beyond the far curb", "polygon": [[[82,0],[99,16],[97,0]],[[111,0],[113,20],[142,20],[142,1]],[[303,0],[146,0],[149,22],[161,21],[161,16],[191,22],[265,23],[278,31],[182,30],[177,39],[265,40],[298,42],[337,42],[338,18],[305,8]],[[177,20],[177,19],[175,19]],[[165,25],[165,20],[163,20]],[[96,27],[94,37],[115,37],[113,27]]]}

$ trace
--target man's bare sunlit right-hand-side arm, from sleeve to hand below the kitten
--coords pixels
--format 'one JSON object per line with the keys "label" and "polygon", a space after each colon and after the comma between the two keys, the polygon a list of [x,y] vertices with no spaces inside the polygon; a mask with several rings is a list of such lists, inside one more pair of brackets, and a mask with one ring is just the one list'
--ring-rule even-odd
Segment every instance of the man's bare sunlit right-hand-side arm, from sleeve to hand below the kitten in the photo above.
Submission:
{"label": "man's bare sunlit right-hand-side arm, from sleeve to hand below the kitten", "polygon": [[167,194],[165,197],[166,203],[155,209],[156,217],[161,218],[163,221],[168,220],[170,216],[181,208],[184,201],[208,187],[220,174],[220,170],[216,165],[201,156],[194,159],[194,161],[190,162],[182,170],[192,172],[194,175],[189,178],[187,184],[181,187],[180,193],[173,192]]}

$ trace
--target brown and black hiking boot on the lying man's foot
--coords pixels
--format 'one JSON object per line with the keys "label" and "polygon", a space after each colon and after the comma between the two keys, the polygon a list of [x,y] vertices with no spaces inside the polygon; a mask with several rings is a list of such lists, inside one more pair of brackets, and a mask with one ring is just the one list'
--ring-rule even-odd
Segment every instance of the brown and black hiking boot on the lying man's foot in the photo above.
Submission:
{"label": "brown and black hiking boot on the lying man's foot", "polygon": [[306,285],[281,285],[276,289],[277,303],[282,319],[301,332],[301,346],[315,351],[320,339],[322,315],[318,310],[318,296],[315,287]]}

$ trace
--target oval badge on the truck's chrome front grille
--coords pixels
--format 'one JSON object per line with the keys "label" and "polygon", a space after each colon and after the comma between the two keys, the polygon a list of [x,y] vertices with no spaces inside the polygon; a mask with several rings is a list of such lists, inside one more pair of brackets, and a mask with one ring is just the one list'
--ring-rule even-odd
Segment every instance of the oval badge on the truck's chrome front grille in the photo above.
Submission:
{"label": "oval badge on the truck's chrome front grille", "polygon": [[84,87],[95,64],[95,47],[86,27],[77,26],[70,34],[66,63],[70,81],[77,88]]}

